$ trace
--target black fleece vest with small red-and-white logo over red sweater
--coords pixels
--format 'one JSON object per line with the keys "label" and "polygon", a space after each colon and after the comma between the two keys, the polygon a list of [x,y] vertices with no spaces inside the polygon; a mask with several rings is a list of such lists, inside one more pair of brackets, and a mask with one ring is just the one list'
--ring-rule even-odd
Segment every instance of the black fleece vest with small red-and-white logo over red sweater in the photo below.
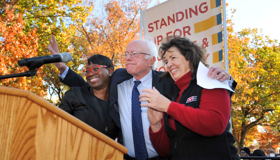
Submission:
{"label": "black fleece vest with small red-and-white logo over red sweater", "polygon": [[[202,87],[197,85],[196,76],[192,78],[189,86],[183,91],[179,100],[193,108],[199,108]],[[176,100],[178,93],[172,97]],[[211,104],[209,104],[211,105]],[[167,114],[164,116],[164,128],[170,138],[170,152],[168,159],[171,160],[236,160],[240,159],[238,150],[234,147],[235,138],[229,132],[230,123],[220,136],[205,137],[181,125],[175,120],[176,131],[169,127]],[[217,124],[219,125],[219,124]]]}

